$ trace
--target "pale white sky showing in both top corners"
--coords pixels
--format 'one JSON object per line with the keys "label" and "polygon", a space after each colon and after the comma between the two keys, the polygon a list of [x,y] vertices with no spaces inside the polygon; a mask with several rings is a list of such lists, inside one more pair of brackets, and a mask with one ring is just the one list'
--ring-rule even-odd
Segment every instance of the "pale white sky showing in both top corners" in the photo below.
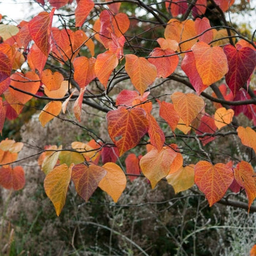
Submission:
{"label": "pale white sky showing in both top corners", "polygon": [[[238,2],[239,0],[235,1]],[[33,3],[32,7],[29,3]],[[249,21],[251,30],[254,31],[256,29],[256,0],[250,0],[250,5],[255,8],[251,13],[235,13],[231,17],[234,23],[248,23]],[[43,11],[42,8],[32,0],[0,0],[0,14],[8,15],[15,21],[28,20],[29,15],[36,15],[40,11]]]}

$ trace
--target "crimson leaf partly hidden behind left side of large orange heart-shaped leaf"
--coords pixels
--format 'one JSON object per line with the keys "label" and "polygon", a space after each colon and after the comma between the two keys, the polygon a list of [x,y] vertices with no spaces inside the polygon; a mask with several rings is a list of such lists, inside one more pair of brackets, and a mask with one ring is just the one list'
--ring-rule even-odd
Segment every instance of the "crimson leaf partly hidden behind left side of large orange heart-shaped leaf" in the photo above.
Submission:
{"label": "crimson leaf partly hidden behind left side of large orange heart-shaped leaf", "polygon": [[208,85],[204,85],[202,83],[202,79],[198,74],[195,64],[195,55],[193,52],[186,52],[185,57],[182,60],[182,70],[186,73],[191,82],[193,88],[195,89],[198,95],[208,87]]}

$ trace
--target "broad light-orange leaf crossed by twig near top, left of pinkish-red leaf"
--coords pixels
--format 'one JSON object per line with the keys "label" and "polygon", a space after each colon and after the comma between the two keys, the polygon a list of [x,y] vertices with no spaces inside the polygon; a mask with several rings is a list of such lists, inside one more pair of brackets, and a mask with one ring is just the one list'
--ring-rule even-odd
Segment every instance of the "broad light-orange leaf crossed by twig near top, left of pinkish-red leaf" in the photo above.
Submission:
{"label": "broad light-orange leaf crossed by twig near top, left of pinkish-red leaf", "polygon": [[166,29],[164,30],[164,37],[166,39],[176,40],[178,43],[188,40],[180,45],[182,51],[186,51],[196,43],[195,22],[192,20],[179,21],[172,18],[168,21]]}

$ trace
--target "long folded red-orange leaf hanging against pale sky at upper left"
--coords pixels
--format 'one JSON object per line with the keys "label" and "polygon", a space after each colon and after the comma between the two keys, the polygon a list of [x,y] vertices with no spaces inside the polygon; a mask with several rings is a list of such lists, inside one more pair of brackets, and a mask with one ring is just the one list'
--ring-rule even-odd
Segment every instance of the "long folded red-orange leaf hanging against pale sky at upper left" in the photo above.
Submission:
{"label": "long folded red-orange leaf hanging against pale sky at upper left", "polygon": [[45,56],[48,56],[51,50],[50,36],[54,11],[55,8],[52,9],[51,13],[43,11],[29,21],[30,35]]}

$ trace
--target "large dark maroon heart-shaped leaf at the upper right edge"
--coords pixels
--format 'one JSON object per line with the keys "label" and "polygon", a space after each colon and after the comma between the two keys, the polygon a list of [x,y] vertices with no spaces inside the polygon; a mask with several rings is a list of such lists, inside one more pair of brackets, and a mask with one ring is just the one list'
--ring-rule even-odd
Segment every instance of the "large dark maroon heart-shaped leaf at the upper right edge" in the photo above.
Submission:
{"label": "large dark maroon heart-shaped leaf at the upper right edge", "polygon": [[223,48],[227,56],[229,71],[226,74],[226,82],[233,95],[245,85],[256,66],[256,52],[248,47],[236,49],[232,45]]}

